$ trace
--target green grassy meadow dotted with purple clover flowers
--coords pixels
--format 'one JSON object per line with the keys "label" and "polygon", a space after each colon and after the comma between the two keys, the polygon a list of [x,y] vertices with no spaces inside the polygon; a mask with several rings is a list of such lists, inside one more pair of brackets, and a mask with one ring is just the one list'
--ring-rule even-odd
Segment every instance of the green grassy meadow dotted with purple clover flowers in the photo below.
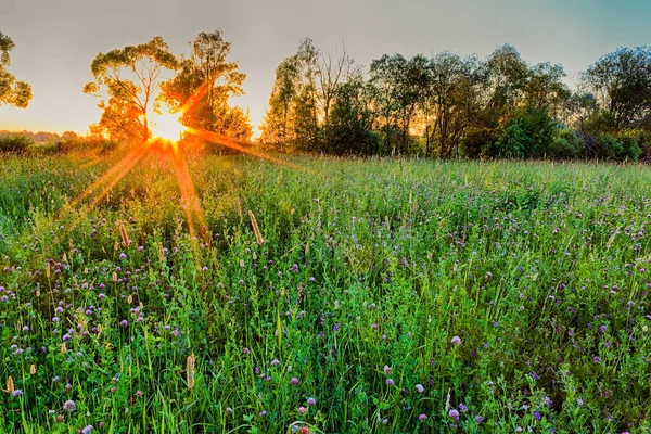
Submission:
{"label": "green grassy meadow dotted with purple clover flowers", "polygon": [[648,167],[119,158],[0,158],[1,432],[651,430]]}

